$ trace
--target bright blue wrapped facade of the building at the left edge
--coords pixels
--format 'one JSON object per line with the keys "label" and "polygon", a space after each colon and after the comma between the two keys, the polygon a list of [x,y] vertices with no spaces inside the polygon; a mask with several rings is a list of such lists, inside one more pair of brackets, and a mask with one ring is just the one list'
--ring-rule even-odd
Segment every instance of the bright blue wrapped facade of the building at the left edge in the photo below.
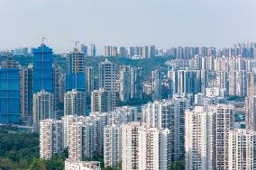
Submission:
{"label": "bright blue wrapped facade of the building at the left edge", "polygon": [[20,69],[0,68],[0,122],[16,123],[20,120]]}

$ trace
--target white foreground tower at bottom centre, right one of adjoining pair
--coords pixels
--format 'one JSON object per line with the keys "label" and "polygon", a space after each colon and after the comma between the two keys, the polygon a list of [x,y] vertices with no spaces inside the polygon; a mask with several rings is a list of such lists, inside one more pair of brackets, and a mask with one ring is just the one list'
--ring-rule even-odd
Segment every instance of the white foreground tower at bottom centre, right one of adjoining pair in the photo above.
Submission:
{"label": "white foreground tower at bottom centre, right one of adjoining pair", "polygon": [[168,129],[141,127],[138,130],[138,169],[167,170],[170,163]]}

